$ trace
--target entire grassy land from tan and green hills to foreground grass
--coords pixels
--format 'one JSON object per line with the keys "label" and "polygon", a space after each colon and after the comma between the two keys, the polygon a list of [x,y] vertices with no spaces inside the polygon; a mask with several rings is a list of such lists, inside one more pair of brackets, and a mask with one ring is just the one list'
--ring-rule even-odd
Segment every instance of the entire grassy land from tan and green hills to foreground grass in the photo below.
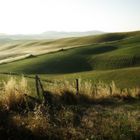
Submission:
{"label": "entire grassy land from tan and green hills to foreground grass", "polygon": [[140,32],[3,42],[0,54],[0,139],[140,139]]}

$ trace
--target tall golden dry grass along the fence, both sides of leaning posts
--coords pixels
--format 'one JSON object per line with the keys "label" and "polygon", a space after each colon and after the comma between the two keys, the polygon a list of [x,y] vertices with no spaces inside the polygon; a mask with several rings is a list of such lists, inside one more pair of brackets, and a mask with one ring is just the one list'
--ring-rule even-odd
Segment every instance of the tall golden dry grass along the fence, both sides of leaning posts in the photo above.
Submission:
{"label": "tall golden dry grass along the fence, both sides of leaning posts", "polygon": [[[44,84],[44,83],[43,83]],[[17,108],[25,104],[25,94],[29,95],[30,91],[26,78],[16,80],[11,77],[7,82],[3,82],[0,96],[0,102],[7,108]],[[35,85],[34,85],[35,86]],[[53,102],[59,103],[92,103],[96,100],[104,99],[138,99],[140,97],[140,88],[120,89],[115,83],[105,84],[103,82],[91,83],[80,82],[79,93],[77,95],[75,82],[65,81],[63,83],[54,83],[45,85],[45,90],[52,94]],[[36,92],[36,91],[34,91]],[[35,94],[34,94],[35,95]],[[56,96],[55,96],[56,95]],[[37,97],[36,97],[37,98]]]}

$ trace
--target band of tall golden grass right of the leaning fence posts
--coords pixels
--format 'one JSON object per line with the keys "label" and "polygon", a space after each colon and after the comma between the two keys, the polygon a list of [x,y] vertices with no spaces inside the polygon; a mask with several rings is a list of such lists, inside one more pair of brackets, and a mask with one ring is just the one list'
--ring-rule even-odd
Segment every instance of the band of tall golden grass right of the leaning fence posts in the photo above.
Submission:
{"label": "band of tall golden grass right of the leaning fence posts", "polygon": [[[65,81],[64,83],[54,84],[52,86],[46,86],[47,90],[55,93],[57,95],[64,95],[67,93],[73,94],[76,96],[76,84],[75,82]],[[79,96],[83,95],[92,100],[105,99],[105,98],[120,98],[120,99],[129,99],[129,98],[139,98],[140,97],[140,88],[124,88],[120,89],[112,81],[110,84],[105,84],[103,82],[92,83],[90,81],[80,82],[79,84]]]}

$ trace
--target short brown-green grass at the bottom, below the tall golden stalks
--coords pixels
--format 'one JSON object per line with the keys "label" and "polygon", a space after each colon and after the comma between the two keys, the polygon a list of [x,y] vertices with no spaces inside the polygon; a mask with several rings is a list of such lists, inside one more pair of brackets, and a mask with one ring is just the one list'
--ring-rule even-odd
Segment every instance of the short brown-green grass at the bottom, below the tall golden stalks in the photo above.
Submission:
{"label": "short brown-green grass at the bottom, below the tall golden stalks", "polygon": [[[137,107],[137,106],[136,106]],[[100,105],[63,106],[54,109],[54,118],[46,108],[38,106],[25,116],[14,114],[11,123],[16,128],[24,128],[36,139],[97,139],[97,140],[138,140],[139,135],[139,108],[135,106],[121,106],[111,109]],[[19,129],[19,130],[20,130]],[[17,134],[13,133],[15,136]],[[31,135],[28,134],[28,139]],[[22,138],[23,139],[23,138]]]}

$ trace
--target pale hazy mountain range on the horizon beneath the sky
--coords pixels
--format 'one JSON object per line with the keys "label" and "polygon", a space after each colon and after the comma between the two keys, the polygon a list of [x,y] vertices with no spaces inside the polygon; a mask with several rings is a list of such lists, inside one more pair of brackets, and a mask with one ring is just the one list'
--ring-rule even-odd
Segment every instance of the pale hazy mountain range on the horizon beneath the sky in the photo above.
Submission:
{"label": "pale hazy mountain range on the horizon beneath the sky", "polygon": [[87,31],[87,32],[57,32],[57,31],[47,31],[42,34],[33,34],[33,35],[6,35],[0,34],[0,42],[6,40],[33,40],[33,39],[59,39],[67,37],[81,37],[89,35],[99,35],[103,34],[101,31]]}

